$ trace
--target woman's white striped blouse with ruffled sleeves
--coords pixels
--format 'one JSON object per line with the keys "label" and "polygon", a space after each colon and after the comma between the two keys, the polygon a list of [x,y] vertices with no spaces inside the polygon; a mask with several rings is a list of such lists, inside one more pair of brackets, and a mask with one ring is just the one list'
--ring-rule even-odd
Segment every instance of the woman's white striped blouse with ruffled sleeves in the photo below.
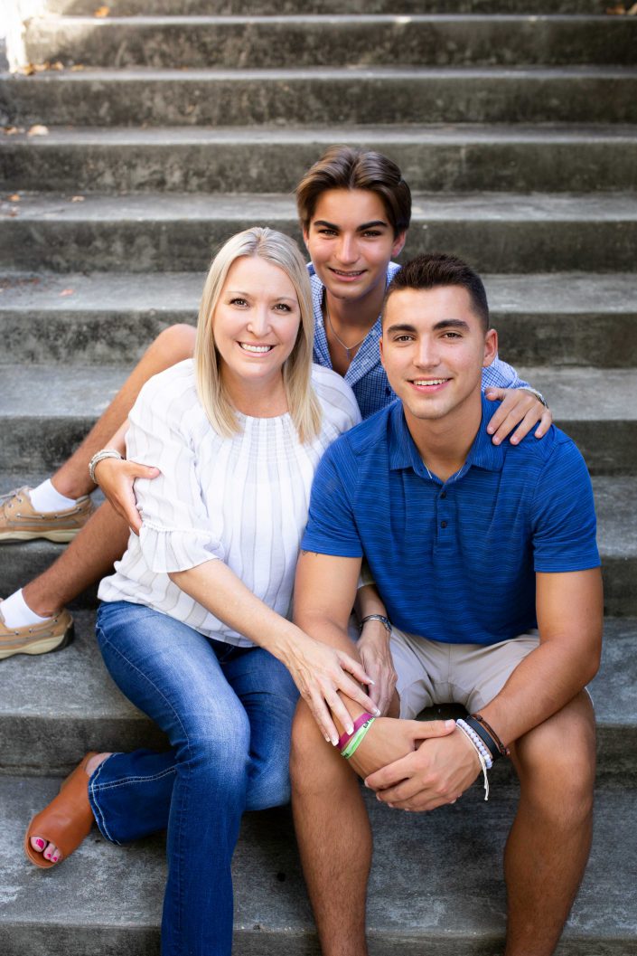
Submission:
{"label": "woman's white striped blouse with ruffled sleeves", "polygon": [[314,471],[328,445],[360,422],[339,375],[313,365],[312,385],[323,421],[307,445],[288,414],[239,415],[242,430],[220,436],[197,397],[192,359],[144,385],[129,416],[127,457],[161,473],[135,483],[141,532],[131,534],[115,574],[102,580],[102,600],[145,604],[206,637],[250,646],[168,577],[218,559],[268,607],[289,616]]}

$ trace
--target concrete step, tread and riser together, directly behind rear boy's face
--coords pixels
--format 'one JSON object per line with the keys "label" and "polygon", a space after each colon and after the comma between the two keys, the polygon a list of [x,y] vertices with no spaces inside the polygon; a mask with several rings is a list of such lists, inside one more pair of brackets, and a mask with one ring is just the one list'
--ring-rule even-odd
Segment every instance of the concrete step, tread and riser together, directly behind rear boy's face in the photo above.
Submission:
{"label": "concrete step, tread and riser together, directly behind rear boy's face", "polygon": [[[203,271],[255,223],[301,239],[289,196],[24,196],[0,202],[0,270]],[[416,193],[404,255],[454,250],[480,272],[631,272],[636,246],[634,193]]]}

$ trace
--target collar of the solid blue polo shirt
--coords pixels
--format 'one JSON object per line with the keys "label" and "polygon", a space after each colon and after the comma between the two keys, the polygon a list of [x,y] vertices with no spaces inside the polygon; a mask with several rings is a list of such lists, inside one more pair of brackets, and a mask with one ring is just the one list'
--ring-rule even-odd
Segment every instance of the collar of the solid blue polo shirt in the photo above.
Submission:
{"label": "collar of the solid blue polo shirt", "polygon": [[[481,400],[482,417],[474,444],[469,449],[467,460],[461,468],[463,472],[470,467],[483,468],[485,471],[501,471],[504,464],[502,445],[494,445],[491,435],[487,432],[487,425],[491,416],[495,414],[498,403],[488,402],[484,395],[481,396]],[[390,468],[393,471],[400,468],[413,468],[416,474],[426,476],[427,469],[423,466],[420,453],[407,427],[402,402],[396,401],[390,405],[387,426]]]}

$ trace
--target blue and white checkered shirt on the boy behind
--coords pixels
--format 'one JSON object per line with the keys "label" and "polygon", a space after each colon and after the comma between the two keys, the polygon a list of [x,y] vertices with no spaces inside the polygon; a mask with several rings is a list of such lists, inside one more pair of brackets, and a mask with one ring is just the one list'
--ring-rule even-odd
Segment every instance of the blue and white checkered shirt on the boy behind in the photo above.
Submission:
{"label": "blue and white checkered shirt on the boy behind", "polygon": [[[391,281],[394,272],[397,272],[400,266],[391,262],[387,270],[387,282]],[[312,305],[314,307],[314,361],[318,365],[324,365],[331,368],[331,359],[329,358],[328,337],[325,332],[323,322],[323,293],[325,286],[319,279],[314,267],[308,264],[309,281],[312,287]],[[345,380],[350,385],[361,415],[364,419],[369,418],[374,412],[385,408],[395,399],[395,393],[391,387],[385,369],[380,363],[380,352],[378,349],[378,339],[380,338],[380,315],[374,322],[372,328],[365,337],[363,344],[358,349],[356,355],[351,359]],[[528,382],[522,381],[513,366],[508,365],[501,359],[494,359],[488,368],[482,369],[482,389],[485,388],[524,388]]]}

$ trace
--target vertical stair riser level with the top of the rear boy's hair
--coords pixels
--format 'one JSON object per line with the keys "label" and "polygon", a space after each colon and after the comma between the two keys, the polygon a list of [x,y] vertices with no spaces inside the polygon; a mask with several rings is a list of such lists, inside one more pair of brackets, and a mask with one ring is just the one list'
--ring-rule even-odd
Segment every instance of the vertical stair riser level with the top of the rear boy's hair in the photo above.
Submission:
{"label": "vertical stair riser level with the top of the rear boy's hair", "polygon": [[[333,141],[344,141],[334,131]],[[260,140],[245,143],[0,141],[4,188],[63,192],[291,191],[329,144]],[[348,138],[350,140],[350,138]],[[637,188],[637,134],[591,141],[436,143],[359,141],[400,165],[414,190],[586,192]]]}

